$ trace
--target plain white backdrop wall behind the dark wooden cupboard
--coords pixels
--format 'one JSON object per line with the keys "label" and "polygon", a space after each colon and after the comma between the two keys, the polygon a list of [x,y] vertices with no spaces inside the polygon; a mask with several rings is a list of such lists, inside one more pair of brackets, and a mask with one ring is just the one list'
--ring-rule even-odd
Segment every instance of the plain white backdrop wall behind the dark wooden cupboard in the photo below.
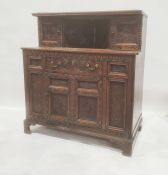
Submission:
{"label": "plain white backdrop wall behind the dark wooden cupboard", "polygon": [[141,9],[148,14],[144,112],[168,113],[167,0],[0,0],[0,108],[24,109],[21,47],[38,45],[33,12]]}

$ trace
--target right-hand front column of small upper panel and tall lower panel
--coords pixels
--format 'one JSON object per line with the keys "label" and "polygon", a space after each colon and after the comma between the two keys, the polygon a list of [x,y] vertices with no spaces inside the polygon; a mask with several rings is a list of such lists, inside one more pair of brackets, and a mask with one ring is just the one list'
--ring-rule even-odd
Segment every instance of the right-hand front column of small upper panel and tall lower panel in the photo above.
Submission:
{"label": "right-hand front column of small upper panel and tall lower panel", "polygon": [[107,76],[106,128],[109,132],[128,134],[132,89],[129,62],[109,62]]}

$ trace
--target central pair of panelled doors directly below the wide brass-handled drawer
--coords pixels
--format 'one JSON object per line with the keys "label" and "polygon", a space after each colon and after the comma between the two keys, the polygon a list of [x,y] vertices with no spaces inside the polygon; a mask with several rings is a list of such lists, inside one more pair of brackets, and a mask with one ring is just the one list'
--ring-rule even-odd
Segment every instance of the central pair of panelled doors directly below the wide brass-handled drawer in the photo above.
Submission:
{"label": "central pair of panelled doors directly below the wide brass-handled drawer", "polygon": [[100,77],[46,73],[48,119],[82,126],[101,126],[102,80]]}

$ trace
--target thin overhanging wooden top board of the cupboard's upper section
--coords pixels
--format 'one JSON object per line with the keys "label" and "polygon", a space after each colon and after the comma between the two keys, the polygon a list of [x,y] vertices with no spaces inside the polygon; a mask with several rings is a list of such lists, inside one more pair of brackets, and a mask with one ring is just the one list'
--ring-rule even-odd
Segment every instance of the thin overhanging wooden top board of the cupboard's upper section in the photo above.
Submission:
{"label": "thin overhanging wooden top board of the cupboard's upper section", "polygon": [[110,16],[110,15],[138,15],[147,16],[142,10],[121,11],[88,11],[88,12],[59,12],[59,13],[33,13],[33,16]]}

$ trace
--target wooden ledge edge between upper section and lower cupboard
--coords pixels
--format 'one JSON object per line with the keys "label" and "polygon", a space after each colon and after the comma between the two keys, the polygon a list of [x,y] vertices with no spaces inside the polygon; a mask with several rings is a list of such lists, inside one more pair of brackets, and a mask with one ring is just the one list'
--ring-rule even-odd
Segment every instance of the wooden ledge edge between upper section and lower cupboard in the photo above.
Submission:
{"label": "wooden ledge edge between upper section and lower cupboard", "polygon": [[50,51],[50,52],[69,52],[69,53],[98,53],[114,55],[138,55],[138,51],[120,51],[112,49],[90,49],[90,48],[67,48],[67,47],[33,47],[22,48],[23,50]]}

